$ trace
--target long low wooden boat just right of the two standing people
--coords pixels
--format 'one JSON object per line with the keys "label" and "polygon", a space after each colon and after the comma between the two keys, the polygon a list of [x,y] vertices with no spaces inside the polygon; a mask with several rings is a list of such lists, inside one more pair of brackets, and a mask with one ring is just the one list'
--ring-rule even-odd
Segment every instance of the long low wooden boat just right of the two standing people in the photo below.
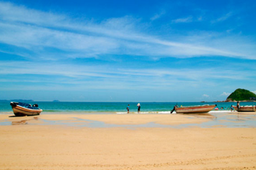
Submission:
{"label": "long low wooden boat just right of the two standing people", "polygon": [[217,105],[201,105],[201,106],[183,106],[176,107],[176,113],[208,113],[214,109]]}

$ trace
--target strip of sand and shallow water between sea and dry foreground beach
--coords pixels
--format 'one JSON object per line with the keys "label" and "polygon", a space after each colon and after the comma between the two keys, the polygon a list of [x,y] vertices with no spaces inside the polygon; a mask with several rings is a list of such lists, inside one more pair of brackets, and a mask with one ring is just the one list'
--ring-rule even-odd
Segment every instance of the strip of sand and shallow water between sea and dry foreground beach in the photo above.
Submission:
{"label": "strip of sand and shallow water between sea and dry foreground beach", "polygon": [[64,125],[73,127],[256,127],[255,112],[211,111],[209,113],[61,113],[39,116],[17,117],[14,114],[0,114],[0,126],[8,125]]}

